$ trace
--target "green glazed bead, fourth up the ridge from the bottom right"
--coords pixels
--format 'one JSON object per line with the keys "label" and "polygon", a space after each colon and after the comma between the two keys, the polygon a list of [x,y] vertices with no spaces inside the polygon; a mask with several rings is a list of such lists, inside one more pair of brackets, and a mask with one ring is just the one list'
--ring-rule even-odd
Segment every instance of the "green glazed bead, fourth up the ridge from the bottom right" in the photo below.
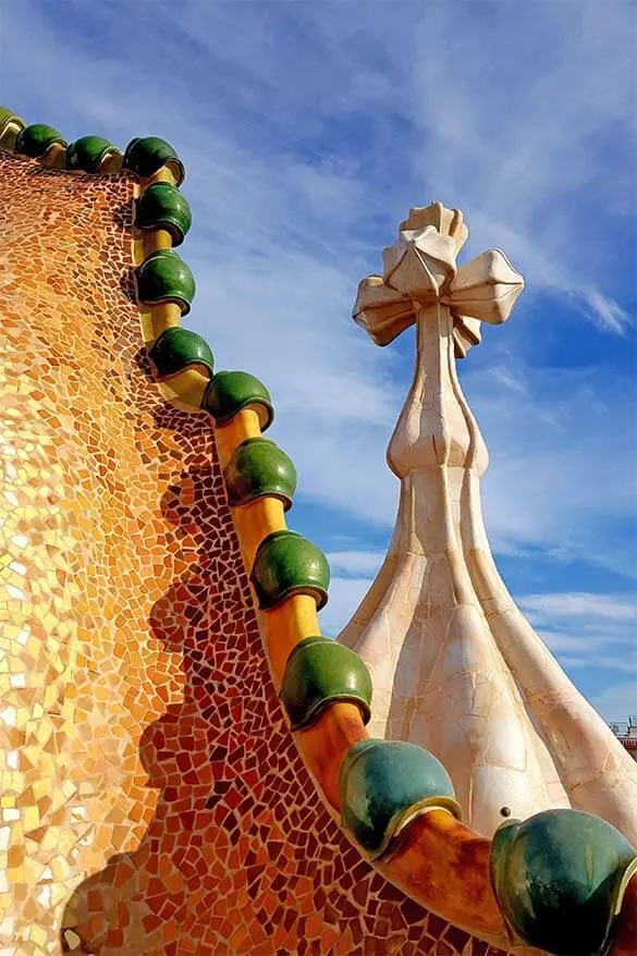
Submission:
{"label": "green glazed bead, fourth up the ridge from the bottom right", "polygon": [[296,531],[272,531],[259,544],[250,581],[261,610],[291,595],[309,595],[320,611],[328,603],[330,566],[316,544]]}

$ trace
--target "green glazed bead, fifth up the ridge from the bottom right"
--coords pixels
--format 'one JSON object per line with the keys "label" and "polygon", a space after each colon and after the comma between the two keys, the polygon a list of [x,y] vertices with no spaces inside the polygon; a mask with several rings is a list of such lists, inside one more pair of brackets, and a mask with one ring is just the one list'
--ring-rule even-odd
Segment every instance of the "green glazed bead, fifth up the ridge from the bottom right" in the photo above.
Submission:
{"label": "green glazed bead, fifth up the ridge from the bottom right", "polygon": [[265,494],[292,507],[296,491],[296,468],[285,452],[267,438],[248,438],[234,451],[225,466],[224,478],[230,504],[248,504]]}

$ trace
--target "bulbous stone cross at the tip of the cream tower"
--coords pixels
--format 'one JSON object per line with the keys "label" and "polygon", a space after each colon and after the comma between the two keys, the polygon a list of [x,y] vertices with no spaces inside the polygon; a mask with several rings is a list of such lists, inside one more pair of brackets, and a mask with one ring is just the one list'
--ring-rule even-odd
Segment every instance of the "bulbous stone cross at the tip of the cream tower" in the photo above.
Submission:
{"label": "bulbous stone cross at the tip of the cream tower", "polygon": [[431,203],[409,210],[397,241],[383,250],[383,274],[358,285],[353,317],[377,345],[388,345],[415,322],[418,309],[436,303],[451,308],[458,358],[480,342],[480,322],[506,321],[524,279],[500,249],[458,268],[467,236],[460,209]]}

